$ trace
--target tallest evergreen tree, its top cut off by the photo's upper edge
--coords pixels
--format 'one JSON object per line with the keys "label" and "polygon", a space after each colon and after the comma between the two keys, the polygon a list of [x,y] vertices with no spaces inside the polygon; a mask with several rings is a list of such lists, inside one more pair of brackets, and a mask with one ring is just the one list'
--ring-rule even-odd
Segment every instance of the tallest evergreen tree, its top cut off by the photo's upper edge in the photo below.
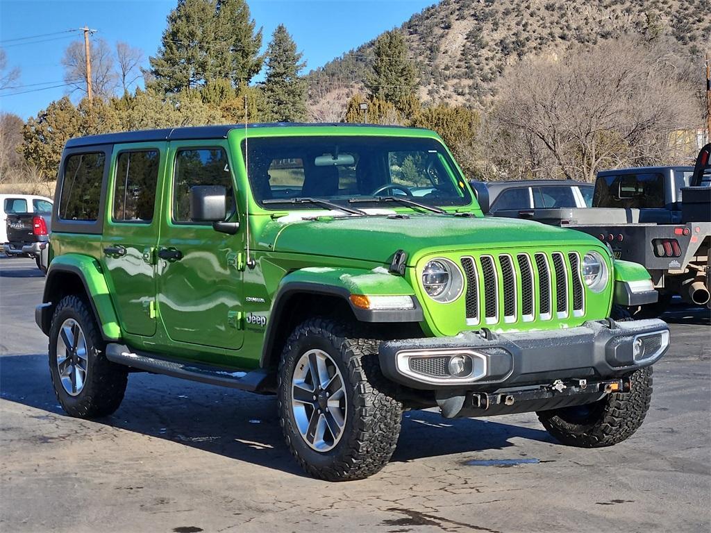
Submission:
{"label": "tallest evergreen tree, its top cut off by the photo's upper edge", "polygon": [[249,82],[262,68],[261,45],[245,0],[178,0],[149,58],[151,85],[177,93],[220,78]]}

